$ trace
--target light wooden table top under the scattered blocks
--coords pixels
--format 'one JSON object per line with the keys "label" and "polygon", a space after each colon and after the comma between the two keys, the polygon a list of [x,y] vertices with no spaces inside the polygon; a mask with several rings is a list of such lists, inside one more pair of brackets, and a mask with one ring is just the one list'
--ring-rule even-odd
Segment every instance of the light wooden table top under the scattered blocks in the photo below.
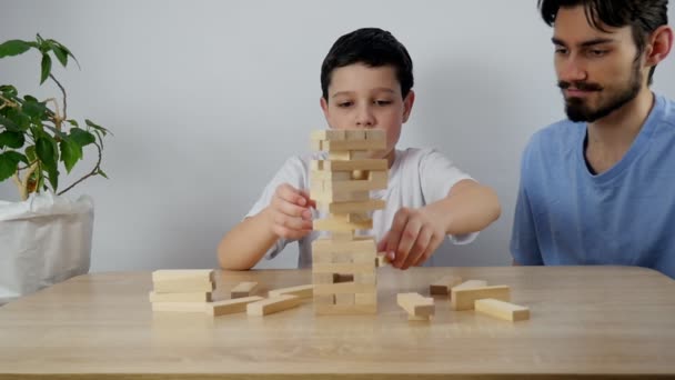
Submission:
{"label": "light wooden table top under the scattered blocks", "polygon": [[[311,303],[268,317],[150,310],[149,272],[71,279],[0,308],[0,379],[119,378],[675,378],[675,281],[622,267],[379,269],[376,316],[315,317]],[[528,321],[451,311],[409,322],[397,292],[427,293],[444,274],[512,287]],[[304,284],[308,270],[221,272]],[[651,378],[652,378],[651,377]]]}

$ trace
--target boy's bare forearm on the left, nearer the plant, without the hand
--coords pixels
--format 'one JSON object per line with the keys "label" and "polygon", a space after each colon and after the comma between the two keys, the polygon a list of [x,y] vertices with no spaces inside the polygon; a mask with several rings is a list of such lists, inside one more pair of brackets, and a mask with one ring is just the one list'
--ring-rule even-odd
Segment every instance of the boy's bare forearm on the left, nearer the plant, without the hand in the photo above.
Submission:
{"label": "boy's bare forearm on the left, nearer the plant, without the hand", "polygon": [[229,270],[253,268],[279,239],[269,224],[266,209],[236,224],[218,246],[220,267]]}

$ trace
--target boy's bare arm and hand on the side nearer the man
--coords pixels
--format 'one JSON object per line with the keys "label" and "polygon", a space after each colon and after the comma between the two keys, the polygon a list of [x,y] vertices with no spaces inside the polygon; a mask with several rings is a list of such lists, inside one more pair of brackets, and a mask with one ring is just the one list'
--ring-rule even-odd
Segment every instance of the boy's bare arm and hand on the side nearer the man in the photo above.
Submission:
{"label": "boy's bare arm and hand on the side nearer the man", "polygon": [[461,180],[436,202],[399,210],[379,249],[387,252],[394,267],[407,269],[426,261],[447,234],[480,231],[500,214],[494,190],[474,180]]}

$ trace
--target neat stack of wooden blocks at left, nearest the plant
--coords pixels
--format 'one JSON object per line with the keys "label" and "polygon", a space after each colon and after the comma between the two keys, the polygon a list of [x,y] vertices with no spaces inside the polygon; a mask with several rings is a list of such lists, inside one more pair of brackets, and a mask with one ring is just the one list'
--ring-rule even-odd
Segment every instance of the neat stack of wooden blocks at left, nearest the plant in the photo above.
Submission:
{"label": "neat stack of wooden blocks at left, nearest the plant", "polygon": [[213,300],[215,274],[211,269],[157,270],[152,286],[152,310],[203,311]]}

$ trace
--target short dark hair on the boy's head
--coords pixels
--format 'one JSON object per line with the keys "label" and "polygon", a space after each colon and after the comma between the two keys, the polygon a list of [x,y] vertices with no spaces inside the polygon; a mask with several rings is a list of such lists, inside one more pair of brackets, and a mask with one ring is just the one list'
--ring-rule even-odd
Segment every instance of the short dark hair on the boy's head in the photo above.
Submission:
{"label": "short dark hair on the boy's head", "polygon": [[329,84],[333,70],[354,63],[373,68],[392,66],[396,70],[403,98],[413,88],[413,61],[405,47],[389,31],[363,28],[340,37],[325,56],[321,64],[323,99],[329,100]]}

